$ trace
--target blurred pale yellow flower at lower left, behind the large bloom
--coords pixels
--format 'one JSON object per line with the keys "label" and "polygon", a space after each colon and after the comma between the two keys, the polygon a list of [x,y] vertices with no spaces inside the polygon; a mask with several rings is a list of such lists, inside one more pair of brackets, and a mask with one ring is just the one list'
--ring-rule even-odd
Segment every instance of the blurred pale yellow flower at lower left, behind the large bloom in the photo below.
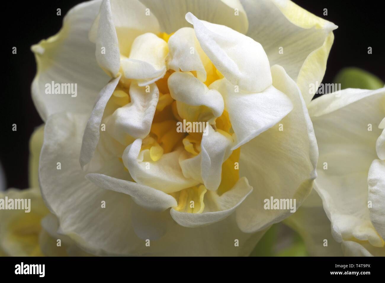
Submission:
{"label": "blurred pale yellow flower at lower left, behind the large bloom", "polygon": [[[29,189],[8,189],[0,199],[24,200],[26,209],[5,209],[0,213],[0,256],[90,256],[68,236],[56,233],[59,223],[49,213],[39,191],[39,155],[44,127],[32,134],[29,158]],[[15,207],[14,207],[15,208]],[[60,241],[58,241],[60,240]]]}

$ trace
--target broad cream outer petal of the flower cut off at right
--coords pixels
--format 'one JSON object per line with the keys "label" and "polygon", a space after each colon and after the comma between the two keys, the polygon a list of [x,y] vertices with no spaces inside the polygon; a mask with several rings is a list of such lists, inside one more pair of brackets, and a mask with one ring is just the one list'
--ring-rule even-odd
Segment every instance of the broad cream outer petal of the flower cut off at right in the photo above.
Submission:
{"label": "broad cream outer petal of the flower cut off at right", "polygon": [[384,91],[345,89],[308,105],[320,151],[315,189],[337,241],[384,244],[367,203],[368,171],[377,159],[375,144],[381,134],[377,125],[385,116]]}

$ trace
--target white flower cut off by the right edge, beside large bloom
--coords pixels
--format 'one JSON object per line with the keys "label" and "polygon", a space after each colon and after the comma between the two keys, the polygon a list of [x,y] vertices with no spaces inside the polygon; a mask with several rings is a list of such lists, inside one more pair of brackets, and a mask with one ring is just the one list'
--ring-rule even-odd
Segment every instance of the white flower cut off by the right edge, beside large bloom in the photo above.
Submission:
{"label": "white flower cut off by the right edge, beside large bloom", "polygon": [[385,88],[345,89],[308,106],[320,152],[314,188],[330,221],[314,193],[288,224],[313,255],[385,256]]}

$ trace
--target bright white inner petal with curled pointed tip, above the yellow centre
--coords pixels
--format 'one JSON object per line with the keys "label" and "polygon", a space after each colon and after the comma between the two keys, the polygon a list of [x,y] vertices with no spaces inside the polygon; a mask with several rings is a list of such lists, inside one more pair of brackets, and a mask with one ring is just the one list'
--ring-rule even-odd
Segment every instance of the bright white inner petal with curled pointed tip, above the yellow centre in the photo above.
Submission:
{"label": "bright white inner petal with curled pointed tip, above the yellow centre", "polygon": [[271,85],[269,60],[261,44],[229,27],[201,21],[190,12],[186,20],[194,25],[202,49],[229,82],[246,92],[261,92]]}

